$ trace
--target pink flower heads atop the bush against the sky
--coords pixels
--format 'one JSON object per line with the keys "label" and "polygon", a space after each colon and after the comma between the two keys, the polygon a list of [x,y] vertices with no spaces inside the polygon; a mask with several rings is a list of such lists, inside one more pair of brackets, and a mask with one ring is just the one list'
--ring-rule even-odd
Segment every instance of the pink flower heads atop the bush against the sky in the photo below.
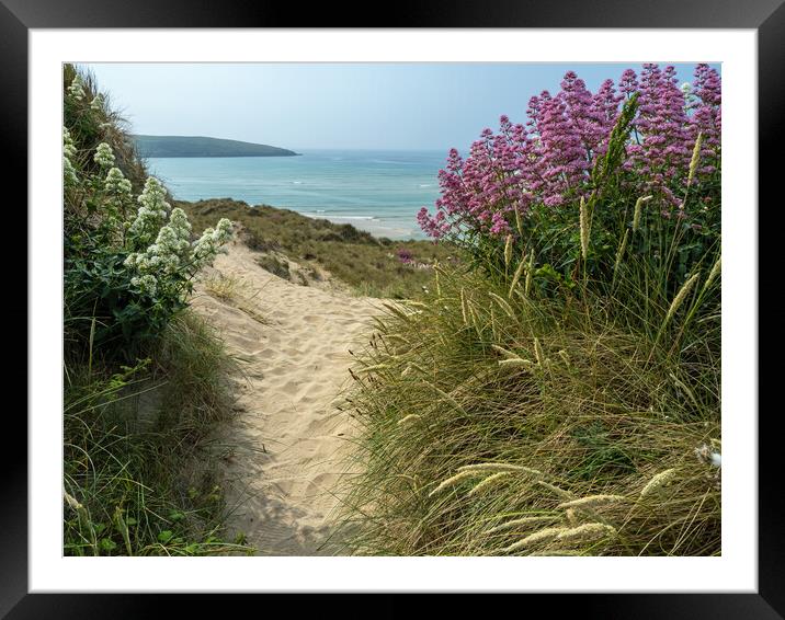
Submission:
{"label": "pink flower heads atop the bush against the sky", "polygon": [[638,112],[623,168],[634,173],[637,190],[657,192],[679,205],[674,190],[683,186],[693,147],[703,134],[702,175],[718,168],[720,145],[719,74],[698,65],[692,84],[680,88],[673,67],[645,65],[632,69],[618,88],[605,80],[596,93],[569,71],[561,90],[544,91],[528,102],[525,125],[500,119],[497,134],[485,129],[463,159],[452,149],[439,171],[441,197],[435,215],[418,214],[422,230],[433,238],[479,233],[505,236],[534,204],[558,207],[589,192],[590,172],[607,149],[621,104],[638,93]]}

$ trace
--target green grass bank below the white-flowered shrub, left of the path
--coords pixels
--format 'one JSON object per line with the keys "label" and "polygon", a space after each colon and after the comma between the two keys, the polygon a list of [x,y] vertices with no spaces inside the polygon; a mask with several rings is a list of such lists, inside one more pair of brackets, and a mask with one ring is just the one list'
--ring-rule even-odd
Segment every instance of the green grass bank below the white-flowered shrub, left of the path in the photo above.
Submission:
{"label": "green grass bank below the white-flowered shrub, left of the path", "polygon": [[215,425],[232,415],[232,361],[191,312],[150,355],[120,372],[99,360],[67,368],[64,552],[250,552],[223,539],[219,455],[209,446]]}

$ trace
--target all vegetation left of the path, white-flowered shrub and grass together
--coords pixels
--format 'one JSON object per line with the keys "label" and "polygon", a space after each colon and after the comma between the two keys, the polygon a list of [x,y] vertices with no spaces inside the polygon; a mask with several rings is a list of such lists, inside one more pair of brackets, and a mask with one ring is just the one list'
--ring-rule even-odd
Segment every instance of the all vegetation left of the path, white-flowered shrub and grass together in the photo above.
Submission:
{"label": "all vegetation left of the path, white-flowered shrub and grass together", "polygon": [[237,369],[187,308],[231,225],[193,237],[91,76],[64,91],[64,553],[251,552],[223,539],[209,449]]}

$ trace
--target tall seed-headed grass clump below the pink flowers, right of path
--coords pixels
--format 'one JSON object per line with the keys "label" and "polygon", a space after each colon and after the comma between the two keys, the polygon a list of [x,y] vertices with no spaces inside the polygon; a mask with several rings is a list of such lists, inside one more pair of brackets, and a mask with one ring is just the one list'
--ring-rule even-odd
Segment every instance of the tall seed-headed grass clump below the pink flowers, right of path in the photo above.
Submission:
{"label": "tall seed-headed grass clump below the pink flowers, right of path", "polygon": [[719,554],[698,455],[720,441],[719,312],[695,297],[717,280],[674,309],[632,274],[602,296],[520,279],[440,269],[377,322],[349,395],[351,551]]}

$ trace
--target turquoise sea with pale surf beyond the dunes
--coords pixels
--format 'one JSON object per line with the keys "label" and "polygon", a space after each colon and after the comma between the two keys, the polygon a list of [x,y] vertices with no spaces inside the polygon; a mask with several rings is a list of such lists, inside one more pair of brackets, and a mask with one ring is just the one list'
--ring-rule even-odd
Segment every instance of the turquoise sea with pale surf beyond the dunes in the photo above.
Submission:
{"label": "turquoise sea with pale surf beyond the dunes", "polygon": [[439,197],[443,151],[297,150],[297,157],[150,158],[175,198],[235,198],[422,239],[417,211]]}

